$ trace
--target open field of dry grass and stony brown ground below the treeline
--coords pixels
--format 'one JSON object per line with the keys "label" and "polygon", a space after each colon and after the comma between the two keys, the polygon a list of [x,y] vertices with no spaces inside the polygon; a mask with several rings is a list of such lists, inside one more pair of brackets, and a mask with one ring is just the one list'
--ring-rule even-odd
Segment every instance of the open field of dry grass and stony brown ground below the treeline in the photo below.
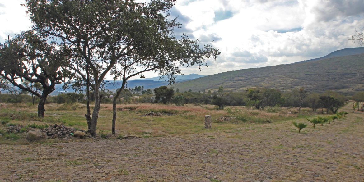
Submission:
{"label": "open field of dry grass and stony brown ground below the treeline", "polygon": [[[111,105],[102,105],[98,131],[110,133]],[[13,124],[60,124],[86,129],[84,105],[36,108],[2,104],[0,120]],[[301,133],[292,121],[315,117],[309,109],[276,113],[212,105],[120,105],[116,129],[134,139],[47,140],[29,143],[0,137],[0,181],[363,181],[364,115]],[[341,110],[350,112],[351,104]],[[142,116],[150,111],[160,117]],[[203,116],[213,118],[203,129]],[[229,121],[221,117],[235,118]],[[4,122],[5,123],[5,122]],[[0,125],[1,129],[5,128]]]}

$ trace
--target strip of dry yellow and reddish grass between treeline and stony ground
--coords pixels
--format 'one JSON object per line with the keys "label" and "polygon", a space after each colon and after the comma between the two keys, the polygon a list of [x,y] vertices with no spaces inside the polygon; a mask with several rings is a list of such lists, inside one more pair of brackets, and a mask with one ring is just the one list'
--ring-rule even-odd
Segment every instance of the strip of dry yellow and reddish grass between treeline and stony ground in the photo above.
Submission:
{"label": "strip of dry yellow and reddish grass between treeline and stony ground", "polygon": [[[292,108],[281,108],[277,113],[254,110],[249,114],[243,106],[229,106],[225,110],[216,110],[214,105],[162,105],[162,104],[125,104],[117,105],[116,129],[120,135],[155,137],[166,135],[184,135],[204,132],[229,132],[244,128],[254,123],[278,122],[296,118],[289,114]],[[230,108],[230,109],[228,109]],[[149,112],[162,113],[161,117],[141,117]],[[65,124],[76,129],[87,129],[84,118],[84,104],[47,104],[44,118],[37,118],[36,106],[27,104],[1,104],[0,120],[13,124]],[[203,129],[204,116],[211,115],[213,129]],[[236,120],[221,122],[221,117],[234,117]],[[102,104],[98,119],[98,132],[111,133],[112,105]],[[3,127],[4,126],[1,126]],[[0,128],[1,129],[1,128]]]}

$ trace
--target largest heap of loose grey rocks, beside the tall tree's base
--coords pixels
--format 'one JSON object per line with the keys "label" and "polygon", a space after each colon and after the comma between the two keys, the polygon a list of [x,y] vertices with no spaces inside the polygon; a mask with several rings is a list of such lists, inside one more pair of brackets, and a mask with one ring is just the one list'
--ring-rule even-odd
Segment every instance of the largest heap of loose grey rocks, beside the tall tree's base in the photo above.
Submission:
{"label": "largest heap of loose grey rocks, beside the tall tree's base", "polygon": [[[80,137],[80,138],[91,138],[91,135],[87,135],[85,131],[77,131],[74,128],[67,128],[64,125],[50,125],[46,129],[41,129],[43,133],[45,133],[48,138],[73,138],[73,137]],[[76,134],[75,136],[72,136],[71,133]]]}

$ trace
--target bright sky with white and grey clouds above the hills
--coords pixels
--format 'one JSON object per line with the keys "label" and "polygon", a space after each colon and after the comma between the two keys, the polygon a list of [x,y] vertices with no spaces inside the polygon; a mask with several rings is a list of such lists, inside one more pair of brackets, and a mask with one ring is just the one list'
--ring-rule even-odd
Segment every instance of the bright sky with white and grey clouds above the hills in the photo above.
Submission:
{"label": "bright sky with white and grey clouds above the hills", "polygon": [[[21,3],[0,0],[0,43],[31,26]],[[363,6],[364,0],[177,0],[171,16],[178,17],[182,28],[175,36],[187,33],[201,44],[213,41],[221,51],[201,72],[192,67],[181,68],[182,73],[289,64],[357,47],[348,39],[364,28]]]}

